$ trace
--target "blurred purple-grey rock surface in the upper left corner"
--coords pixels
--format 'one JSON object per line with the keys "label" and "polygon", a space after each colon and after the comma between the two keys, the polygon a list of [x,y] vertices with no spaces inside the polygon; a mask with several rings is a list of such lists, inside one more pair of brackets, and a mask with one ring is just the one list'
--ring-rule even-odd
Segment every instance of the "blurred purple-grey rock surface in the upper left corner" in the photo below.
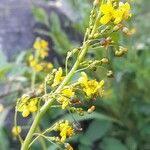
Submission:
{"label": "blurred purple-grey rock surface in the upper left corner", "polygon": [[31,0],[1,0],[0,49],[8,58],[31,46],[33,24]]}

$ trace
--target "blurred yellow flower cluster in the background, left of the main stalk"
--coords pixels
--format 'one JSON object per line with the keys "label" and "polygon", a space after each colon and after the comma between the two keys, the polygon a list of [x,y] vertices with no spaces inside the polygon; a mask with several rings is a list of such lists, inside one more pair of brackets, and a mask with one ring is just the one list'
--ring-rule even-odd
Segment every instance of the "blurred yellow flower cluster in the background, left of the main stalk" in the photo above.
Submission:
{"label": "blurred yellow flower cluster in the background, left of the main stalk", "polygon": [[28,62],[36,72],[47,71],[53,68],[52,63],[44,61],[48,56],[48,42],[37,38],[34,42],[33,48],[35,54],[30,54]]}

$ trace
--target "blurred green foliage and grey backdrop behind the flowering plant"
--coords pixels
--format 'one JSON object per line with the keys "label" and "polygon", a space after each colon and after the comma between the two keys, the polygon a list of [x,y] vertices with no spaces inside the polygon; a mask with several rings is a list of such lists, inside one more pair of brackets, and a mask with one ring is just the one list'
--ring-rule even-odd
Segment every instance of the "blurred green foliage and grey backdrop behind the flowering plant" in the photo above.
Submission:
{"label": "blurred green foliage and grey backdrop behind the flowering plant", "polygon": [[[107,81],[105,96],[97,100],[96,111],[75,116],[79,132],[69,143],[75,150],[150,150],[150,1],[130,0],[132,19],[126,25],[133,35],[117,34],[128,48],[124,57],[110,54],[108,68],[98,68],[91,76]],[[81,45],[89,22],[92,0],[1,0],[0,2],[0,150],[19,150],[11,129],[16,99],[29,87],[31,70],[26,55],[36,37],[49,42],[49,57],[55,67],[64,66],[66,52]],[[101,59],[103,52],[90,51],[88,58]],[[69,66],[74,60],[69,62]],[[108,70],[114,77],[106,77]],[[101,76],[99,76],[99,74]],[[43,80],[39,73],[37,84]],[[86,108],[86,106],[85,106]],[[41,123],[45,129],[67,112],[51,109]],[[25,137],[31,118],[18,117]],[[46,142],[48,150],[57,147]],[[41,150],[38,142],[31,148]]]}

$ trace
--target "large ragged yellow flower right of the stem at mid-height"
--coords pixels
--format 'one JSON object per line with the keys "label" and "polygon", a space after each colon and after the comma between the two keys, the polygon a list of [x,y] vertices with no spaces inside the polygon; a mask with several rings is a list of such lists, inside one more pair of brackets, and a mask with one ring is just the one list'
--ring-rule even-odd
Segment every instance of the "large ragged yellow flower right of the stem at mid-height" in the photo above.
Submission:
{"label": "large ragged yellow flower right of the stem at mid-height", "polygon": [[104,80],[97,82],[96,80],[88,80],[88,77],[85,72],[81,72],[81,77],[78,82],[80,83],[83,91],[86,93],[88,97],[91,97],[95,94],[102,95]]}

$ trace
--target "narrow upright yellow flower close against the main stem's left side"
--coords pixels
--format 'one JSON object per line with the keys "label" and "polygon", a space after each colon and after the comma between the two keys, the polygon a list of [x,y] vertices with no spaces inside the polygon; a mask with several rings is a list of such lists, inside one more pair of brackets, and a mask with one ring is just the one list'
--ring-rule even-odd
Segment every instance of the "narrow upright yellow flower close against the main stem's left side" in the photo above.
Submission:
{"label": "narrow upright yellow flower close against the main stem's left side", "polygon": [[60,84],[60,82],[64,79],[62,75],[63,75],[63,71],[62,71],[62,68],[60,67],[58,71],[55,73],[54,82],[52,84],[53,87]]}

